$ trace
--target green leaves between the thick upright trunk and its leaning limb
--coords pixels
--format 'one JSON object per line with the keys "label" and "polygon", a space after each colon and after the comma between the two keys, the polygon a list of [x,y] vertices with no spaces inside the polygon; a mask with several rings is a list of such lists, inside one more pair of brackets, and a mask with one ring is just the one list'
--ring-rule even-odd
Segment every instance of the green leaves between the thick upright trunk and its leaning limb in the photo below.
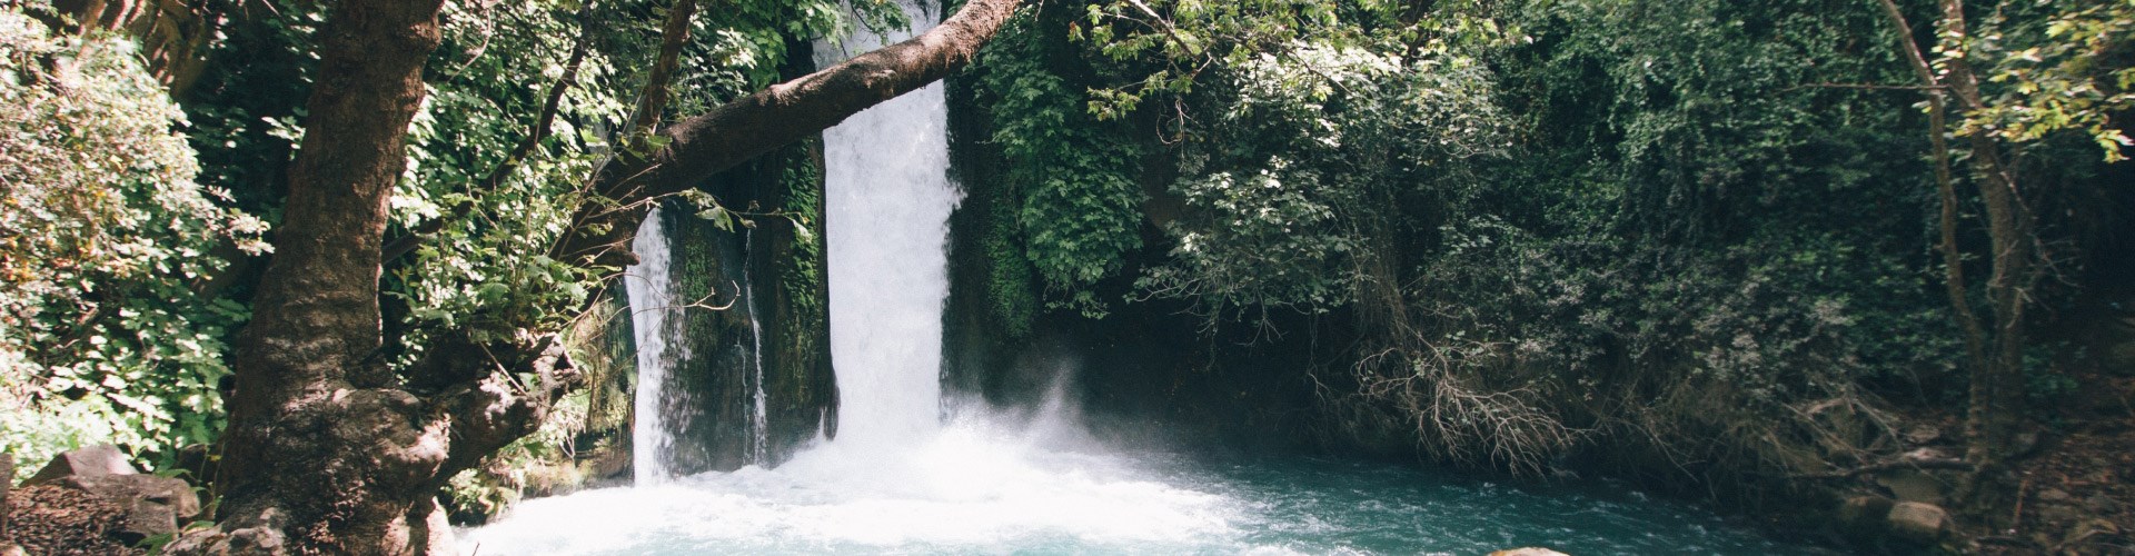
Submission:
{"label": "green leaves between the thick upright trunk and its leaning limb", "polygon": [[[611,133],[636,109],[666,4],[600,4],[585,13],[570,0],[446,9],[431,94],[410,130],[410,173],[393,195],[397,229],[444,220],[408,261],[389,267],[389,295],[406,304],[404,357],[440,329],[470,329],[476,338],[557,329],[615,272],[544,252],[576,210],[613,203],[589,197],[583,184],[617,143]],[[871,2],[860,21],[899,17],[895,4]],[[705,11],[692,26],[670,86],[668,111],[677,118],[775,81],[788,41],[841,32],[848,19],[833,2],[749,2]],[[574,81],[559,83],[579,41],[589,41],[589,53]],[[549,139],[527,160],[506,160],[555,86],[566,92]],[[487,175],[506,163],[517,163],[512,173],[487,188]],[[700,216],[728,231],[754,225],[747,218],[756,214],[690,195]]]}

